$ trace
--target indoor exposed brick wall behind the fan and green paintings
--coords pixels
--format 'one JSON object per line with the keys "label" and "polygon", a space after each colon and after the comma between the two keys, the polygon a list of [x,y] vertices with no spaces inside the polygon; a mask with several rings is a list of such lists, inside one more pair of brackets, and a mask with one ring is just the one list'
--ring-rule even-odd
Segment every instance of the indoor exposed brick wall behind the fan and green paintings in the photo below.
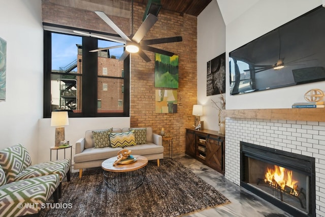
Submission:
{"label": "indoor exposed brick wall behind the fan and green paintings", "polygon": [[[56,5],[42,1],[43,22],[55,23],[101,32],[112,33],[92,11]],[[134,4],[134,33],[142,23],[145,5]],[[131,19],[110,16],[128,35],[131,34]],[[169,132],[173,140],[173,153],[185,153],[185,128],[191,128],[194,117],[192,106],[197,104],[197,17],[160,10],[158,21],[145,39],[182,36],[177,43],[153,45],[179,55],[179,87],[177,89],[177,113],[155,113],[154,53],[146,52],[151,61],[146,63],[137,54],[131,56],[131,127],[152,127],[154,133],[161,128]],[[168,146],[164,142],[164,146]],[[165,148],[168,153],[168,148]]]}

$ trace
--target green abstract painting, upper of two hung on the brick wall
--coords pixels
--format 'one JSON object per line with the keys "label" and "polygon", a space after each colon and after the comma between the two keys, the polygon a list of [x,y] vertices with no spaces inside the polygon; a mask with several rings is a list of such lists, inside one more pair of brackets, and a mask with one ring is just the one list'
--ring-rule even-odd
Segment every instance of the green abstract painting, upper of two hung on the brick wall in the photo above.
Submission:
{"label": "green abstract painting, upper of two hung on the brick wall", "polygon": [[178,88],[178,55],[155,53],[154,86]]}

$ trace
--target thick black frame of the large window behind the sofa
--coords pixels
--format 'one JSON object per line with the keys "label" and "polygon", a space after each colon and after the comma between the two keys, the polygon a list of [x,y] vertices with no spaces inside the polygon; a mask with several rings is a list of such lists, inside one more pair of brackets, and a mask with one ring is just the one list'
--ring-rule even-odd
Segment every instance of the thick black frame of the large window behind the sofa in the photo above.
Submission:
{"label": "thick black frame of the large window behind the sofa", "polygon": [[[57,26],[56,26],[57,27]],[[62,26],[59,26],[62,28]],[[70,30],[73,28],[69,28]],[[84,32],[92,32],[85,29],[73,29],[81,30]],[[73,35],[60,32],[52,32],[51,30],[44,29],[44,95],[43,95],[43,117],[51,117],[51,75],[62,74],[52,72],[52,33]],[[99,34],[105,34],[95,32]],[[79,35],[73,35],[79,36]],[[123,94],[123,112],[117,113],[102,113],[98,112],[98,54],[96,52],[89,52],[89,50],[98,48],[98,40],[94,37],[80,36],[82,37],[82,108],[81,113],[69,112],[69,117],[129,117],[129,105],[130,105],[130,58],[129,55],[123,61],[124,68],[124,94]],[[102,39],[100,39],[102,40]],[[91,88],[92,87],[92,88]]]}

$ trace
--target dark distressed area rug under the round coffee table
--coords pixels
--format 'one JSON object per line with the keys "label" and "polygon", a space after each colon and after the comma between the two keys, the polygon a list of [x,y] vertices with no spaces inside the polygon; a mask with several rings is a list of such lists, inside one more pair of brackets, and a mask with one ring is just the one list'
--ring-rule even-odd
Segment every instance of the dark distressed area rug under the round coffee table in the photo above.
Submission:
{"label": "dark distressed area rug under the round coffee table", "polygon": [[[79,179],[62,182],[61,207],[45,208],[40,216],[179,216],[229,203],[210,184],[171,159],[149,161],[146,179],[130,193],[114,193],[104,182],[103,170],[84,171]],[[68,205],[65,205],[67,203]]]}

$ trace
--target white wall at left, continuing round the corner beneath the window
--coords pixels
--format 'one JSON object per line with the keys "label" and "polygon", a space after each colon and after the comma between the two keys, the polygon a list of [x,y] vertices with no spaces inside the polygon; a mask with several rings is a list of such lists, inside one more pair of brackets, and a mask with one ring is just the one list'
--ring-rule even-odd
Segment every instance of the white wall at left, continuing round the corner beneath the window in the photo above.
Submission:
{"label": "white wall at left, continuing round the corner beneath the window", "polygon": [[[7,94],[6,102],[0,102],[0,149],[21,143],[33,164],[48,161],[55,128],[50,126],[50,118],[43,118],[41,1],[0,0],[0,5],[0,37],[7,41]],[[66,139],[73,144],[73,154],[75,142],[86,130],[130,125],[129,117],[69,118],[69,121]],[[56,157],[54,152],[52,156]]]}

